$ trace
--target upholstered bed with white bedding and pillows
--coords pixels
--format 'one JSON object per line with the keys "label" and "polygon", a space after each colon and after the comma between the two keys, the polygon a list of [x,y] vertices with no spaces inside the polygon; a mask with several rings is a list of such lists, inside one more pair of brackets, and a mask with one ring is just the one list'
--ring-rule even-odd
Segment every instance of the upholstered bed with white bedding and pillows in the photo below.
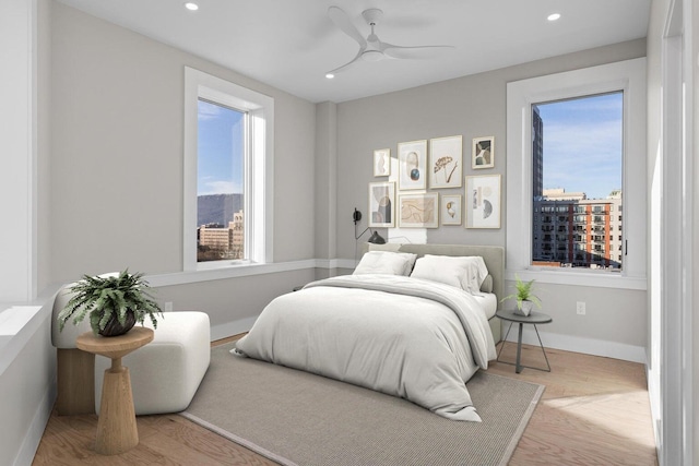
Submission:
{"label": "upholstered bed with white bedding and pillows", "polygon": [[365,250],[353,275],[270,302],[232,354],[479,421],[465,382],[496,358],[503,249],[389,243]]}

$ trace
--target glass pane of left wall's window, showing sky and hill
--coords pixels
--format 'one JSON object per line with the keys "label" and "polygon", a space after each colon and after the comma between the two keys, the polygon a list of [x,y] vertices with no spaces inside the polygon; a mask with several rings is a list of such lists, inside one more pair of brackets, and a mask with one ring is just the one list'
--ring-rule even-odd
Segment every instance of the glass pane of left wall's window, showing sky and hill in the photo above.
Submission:
{"label": "glass pane of left wall's window, showing sky and hill", "polygon": [[244,260],[246,112],[199,99],[197,262]]}

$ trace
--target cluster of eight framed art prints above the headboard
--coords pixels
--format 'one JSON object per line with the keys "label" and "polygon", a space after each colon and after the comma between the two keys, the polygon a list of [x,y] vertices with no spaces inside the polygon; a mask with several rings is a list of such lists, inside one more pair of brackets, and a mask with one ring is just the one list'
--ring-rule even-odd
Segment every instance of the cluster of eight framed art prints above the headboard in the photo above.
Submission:
{"label": "cluster of eight framed art prints above the headboard", "polygon": [[[461,135],[401,142],[374,151],[369,227],[500,228],[501,176],[495,168],[495,138],[474,138],[464,170]],[[481,171],[484,170],[484,171]]]}

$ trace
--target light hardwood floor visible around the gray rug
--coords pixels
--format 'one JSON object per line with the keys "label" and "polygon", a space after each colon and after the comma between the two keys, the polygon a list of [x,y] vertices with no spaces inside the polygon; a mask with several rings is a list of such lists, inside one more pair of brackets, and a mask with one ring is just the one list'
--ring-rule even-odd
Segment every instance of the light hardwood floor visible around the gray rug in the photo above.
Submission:
{"label": "light hardwood floor visible around the gray rug", "polygon": [[[229,338],[232,339],[232,338]],[[226,340],[216,342],[216,344]],[[508,343],[502,359],[514,360]],[[552,372],[495,362],[500,375],[546,385],[514,451],[521,465],[657,465],[642,365],[547,349]],[[528,366],[545,366],[538,347],[524,346]],[[121,455],[93,452],[96,416],[49,419],[34,465],[273,465],[178,415],[139,416],[140,444]]]}

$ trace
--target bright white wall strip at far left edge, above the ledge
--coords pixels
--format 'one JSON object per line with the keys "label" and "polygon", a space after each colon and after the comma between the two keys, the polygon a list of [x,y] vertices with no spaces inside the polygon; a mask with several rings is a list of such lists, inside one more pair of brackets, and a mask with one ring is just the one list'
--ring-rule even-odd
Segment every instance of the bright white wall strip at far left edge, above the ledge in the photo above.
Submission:
{"label": "bright white wall strip at far left edge, above the ledge", "polygon": [[0,301],[36,296],[36,0],[0,5]]}

